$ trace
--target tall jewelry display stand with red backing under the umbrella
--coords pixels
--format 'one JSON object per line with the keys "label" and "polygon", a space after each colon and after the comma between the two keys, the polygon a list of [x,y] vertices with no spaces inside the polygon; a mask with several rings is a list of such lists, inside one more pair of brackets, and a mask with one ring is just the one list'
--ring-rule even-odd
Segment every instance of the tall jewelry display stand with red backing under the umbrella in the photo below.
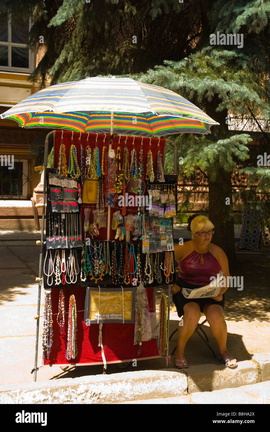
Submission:
{"label": "tall jewelry display stand with red backing under the umbrella", "polygon": [[[50,135],[52,134],[54,139],[54,167],[55,168],[47,169],[48,140]],[[131,362],[134,359],[137,360],[151,359],[151,358],[158,358],[161,356],[160,351],[158,349],[157,338],[153,338],[140,343],[140,347],[138,350],[139,355],[137,354],[138,346],[134,345],[135,290],[136,290],[136,286],[138,287],[140,282],[138,276],[139,273],[137,270],[137,264],[139,263],[141,266],[141,270],[144,270],[144,267],[148,268],[147,265],[150,264],[151,260],[152,260],[151,265],[153,269],[153,275],[155,274],[156,277],[155,280],[152,280],[151,276],[149,276],[148,273],[146,273],[148,275],[148,279],[147,279],[148,282],[146,282],[147,297],[144,298],[144,302],[148,302],[150,314],[154,315],[156,313],[154,287],[161,286],[162,284],[168,286],[168,302],[166,305],[167,317],[165,320],[166,323],[165,334],[166,334],[166,341],[167,341],[166,367],[168,368],[170,288],[171,288],[171,283],[173,283],[175,280],[175,273],[174,276],[171,274],[171,270],[173,268],[172,265],[175,267],[174,263],[172,264],[172,260],[174,261],[174,254],[172,255],[170,253],[170,249],[167,249],[166,251],[164,251],[163,249],[163,251],[157,253],[154,253],[152,251],[149,254],[142,253],[141,240],[142,238],[144,238],[144,234],[141,234],[142,235],[141,238],[138,236],[137,240],[135,241],[134,240],[128,241],[128,236],[126,237],[126,239],[123,239],[122,241],[119,241],[119,239],[115,241],[114,239],[116,237],[116,231],[112,230],[111,227],[112,227],[113,213],[115,213],[117,210],[121,210],[119,209],[117,202],[114,203],[113,206],[107,206],[107,203],[103,202],[102,199],[100,198],[103,196],[103,194],[100,194],[100,192],[98,192],[99,198],[97,198],[96,203],[86,204],[83,202],[83,200],[82,203],[80,203],[80,199],[77,200],[76,203],[74,203],[72,200],[66,200],[67,202],[65,202],[65,199],[57,200],[57,195],[53,195],[53,194],[57,194],[58,193],[57,191],[60,190],[60,187],[58,189],[56,187],[50,188],[49,180],[48,180],[49,173],[53,174],[57,172],[57,161],[58,161],[58,155],[59,155],[59,149],[61,143],[66,144],[67,162],[68,162],[69,149],[72,146],[74,146],[74,148],[72,147],[72,152],[73,152],[72,154],[74,155],[74,159],[72,160],[74,161],[76,160],[76,155],[77,155],[77,159],[79,160],[80,146],[82,146],[81,148],[83,148],[84,151],[86,150],[87,146],[90,146],[91,150],[95,148],[99,148],[100,162],[101,162],[101,157],[102,160],[104,160],[104,155],[102,153],[102,149],[104,148],[104,146],[107,147],[109,156],[110,156],[110,151],[112,150],[115,151],[115,154],[117,156],[117,151],[118,151],[117,148],[121,148],[122,158],[123,158],[123,149],[127,148],[129,150],[129,155],[131,156],[131,161],[133,160],[132,158],[134,158],[134,154],[135,154],[134,152],[136,152],[137,155],[139,155],[140,149],[145,149],[144,168],[141,169],[144,169],[144,172],[147,173],[148,172],[147,161],[149,160],[148,149],[151,148],[151,158],[153,158],[154,160],[154,166],[156,164],[157,153],[159,150],[163,155],[163,165],[164,165],[167,141],[170,141],[170,143],[173,143],[173,145],[175,146],[174,172],[176,174],[177,148],[175,143],[171,140],[156,139],[156,138],[150,139],[150,138],[131,137],[131,136],[127,137],[127,136],[118,136],[118,135],[110,136],[106,134],[96,134],[96,133],[75,133],[75,132],[73,133],[73,132],[61,131],[61,130],[48,133],[45,140],[45,149],[44,149],[44,191],[43,191],[43,203],[46,202],[45,199],[47,194],[47,211],[45,216],[45,206],[43,206],[41,242],[40,242],[41,250],[40,250],[40,258],[39,258],[39,275],[36,278],[36,281],[39,283],[39,287],[38,287],[38,311],[36,317],[37,332],[36,332],[36,349],[35,349],[35,368],[33,369],[34,381],[36,381],[36,373],[38,370],[37,362],[38,362],[38,334],[39,334],[41,286],[44,286],[45,293],[46,292],[50,293],[50,297],[49,297],[50,301],[47,301],[46,303],[46,312],[45,312],[46,316],[44,321],[44,329],[45,329],[44,346],[47,346],[47,343],[49,343],[48,342],[49,339],[51,345],[48,356],[47,356],[48,351],[45,352],[44,350],[42,365],[58,365],[58,366],[98,365],[98,364],[105,365],[105,362],[106,363]],[[92,152],[93,159],[94,157],[97,157],[97,155],[98,155],[98,151],[96,152],[96,156],[94,156],[94,151]],[[160,152],[158,157],[159,158],[161,157]],[[72,163],[74,164],[75,162]],[[80,161],[80,163],[82,165],[82,161]],[[126,164],[126,167],[129,167],[129,164],[130,164],[130,159],[128,164]],[[139,157],[138,157],[138,165],[139,165]],[[100,167],[101,167],[101,172],[102,171],[104,172],[103,163],[102,164],[100,163]],[[135,162],[134,162],[134,167],[135,167]],[[109,163],[108,163],[108,168],[110,168]],[[122,168],[122,160],[121,160],[121,168]],[[69,169],[72,169],[72,164],[71,167],[69,166]],[[136,167],[134,169],[136,169]],[[118,172],[118,175],[121,181],[120,171]],[[158,175],[160,176],[160,172],[158,172]],[[153,182],[153,178],[151,178],[149,175],[148,181],[144,182],[145,184],[144,191],[146,188],[155,188],[158,185],[162,186],[163,184],[164,187],[165,186],[167,187],[166,191],[168,191],[168,195],[170,194],[170,191],[172,191],[171,193],[173,193],[174,191],[176,192],[176,198],[177,198],[176,175],[168,176],[168,178],[167,181],[163,181],[161,183],[156,181]],[[110,177],[108,177],[108,179],[110,180]],[[81,182],[81,178],[78,181],[79,198],[82,195],[82,193],[80,194],[80,186],[81,186],[80,182]],[[110,188],[109,183],[107,185],[104,184],[104,190],[105,187]],[[170,188],[168,188],[168,185],[170,185]],[[174,190],[173,187],[175,188]],[[72,189],[70,187],[69,187],[69,192],[72,192]],[[119,195],[121,195],[123,192],[124,191],[121,191]],[[146,191],[145,191],[145,195],[146,195]],[[59,205],[62,204],[66,205],[66,209],[68,208],[68,212],[70,213],[63,212],[61,214],[60,213],[61,210],[58,210],[58,212],[53,212],[53,206],[55,205],[55,203],[58,203]],[[74,204],[73,206],[74,208],[72,207],[71,204]],[[177,199],[176,199],[176,204],[177,204]],[[93,237],[91,238],[89,237],[90,229],[89,232],[84,231],[84,227],[87,226],[86,223],[87,221],[85,221],[85,209],[87,208],[91,209],[90,218],[92,219],[94,214],[93,212],[97,207],[100,210],[99,214],[101,213],[107,214],[107,226],[103,226],[100,223],[99,235],[93,235]],[[143,210],[143,217],[142,217],[142,213],[138,213],[137,207],[138,205],[135,206],[130,205],[125,211],[127,212],[127,214],[131,214],[131,215],[139,214],[140,216],[137,219],[141,219],[140,223],[142,224],[143,227],[145,227],[144,210]],[[47,238],[44,241],[45,220],[46,220]],[[173,217],[171,221],[173,227]],[[81,224],[79,224],[79,222],[81,222]],[[121,230],[117,231],[117,234],[121,235]],[[90,246],[89,245],[85,246],[86,235],[88,235],[89,237]],[[168,236],[164,234],[164,237],[168,237]],[[84,244],[84,246],[82,246],[82,244]],[[170,246],[168,246],[168,248],[169,247]],[[129,251],[128,254],[126,254],[126,248]],[[90,264],[88,263],[88,254],[90,253],[93,254],[93,256],[94,254],[96,254],[95,256],[97,257],[97,259],[94,262],[99,263],[99,265],[101,263],[100,260],[102,257],[102,263],[104,263],[102,265],[104,266],[104,269],[102,271],[100,270],[101,273],[94,273],[94,270],[92,271],[92,273],[89,273]],[[45,260],[44,260],[44,254],[45,254]],[[123,257],[122,262],[121,262],[121,257]],[[128,261],[126,261],[126,259]],[[110,275],[107,270],[108,260],[109,260],[109,264],[110,264],[109,267],[111,268],[112,275]],[[147,260],[149,261],[149,263]],[[115,263],[118,266],[122,266],[121,268],[123,269],[123,276],[122,276],[123,280],[119,279],[119,282],[114,282],[113,280],[113,276],[114,276],[113,266],[115,265]],[[127,266],[127,263],[130,264],[131,266],[131,269],[129,270],[130,276],[125,276],[125,268],[126,268],[125,266]],[[160,272],[158,267],[160,267],[164,272],[164,275],[161,278],[158,273]],[[85,268],[87,268],[87,273],[88,273],[86,276],[84,276]],[[90,277],[89,274],[90,276],[92,274],[93,277]],[[136,276],[135,280],[138,281],[135,283],[135,286],[132,282],[132,274]],[[126,282],[124,281],[124,279],[126,279]],[[144,275],[142,275],[141,280],[142,281],[144,280]],[[109,320],[106,321],[107,314],[105,313],[106,311],[104,309],[105,312],[103,314],[103,319],[100,320],[102,322],[97,321],[97,324],[95,323],[93,324],[94,319],[92,319],[89,320],[89,323],[86,324],[85,322],[87,322],[88,319],[87,314],[85,314],[87,309],[85,306],[87,305],[87,303],[85,302],[88,296],[88,294],[86,295],[86,293],[88,292],[90,293],[92,290],[93,292],[99,292],[99,296],[100,296],[100,290],[102,290],[102,292],[104,293],[106,292],[109,293],[111,290],[113,292],[116,292],[118,295],[117,289],[120,293],[119,298],[121,298],[122,295],[122,300],[123,300],[122,311],[124,311],[124,292],[126,292],[125,308],[132,307],[132,313],[129,317],[130,319],[126,320],[127,322],[125,322],[124,319],[123,322],[121,322],[122,318],[119,318],[118,321],[116,320],[116,322],[112,322],[111,318],[110,321]],[[133,292],[133,294],[129,300],[130,292]],[[139,288],[138,288],[138,292],[139,292]],[[101,299],[105,297],[103,294],[103,297],[101,296]],[[140,297],[138,295],[138,301],[139,300]],[[100,305],[101,303],[98,303],[99,307],[101,307]],[[162,308],[164,309],[164,305],[162,306]],[[87,313],[89,315],[89,312]],[[67,318],[68,316],[69,318]],[[118,315],[116,314],[116,317],[117,316]],[[141,321],[139,321],[139,326],[140,325],[142,325]],[[50,330],[48,330],[49,328]],[[69,349],[69,346],[67,346],[67,337],[69,331],[75,331],[75,334],[73,335],[73,341],[72,341],[73,348],[74,348],[74,343],[76,345],[75,354],[74,353],[72,354],[73,348],[70,347]],[[75,337],[75,341],[74,341],[74,337]]]}

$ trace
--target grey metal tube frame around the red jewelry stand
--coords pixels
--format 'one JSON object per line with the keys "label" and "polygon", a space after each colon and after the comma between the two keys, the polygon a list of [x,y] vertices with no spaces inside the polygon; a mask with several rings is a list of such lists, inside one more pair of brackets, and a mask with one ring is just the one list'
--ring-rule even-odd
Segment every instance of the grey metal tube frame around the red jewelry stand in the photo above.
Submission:
{"label": "grey metal tube frame around the red jewelry stand", "polygon": [[[38,282],[38,310],[35,319],[37,320],[37,329],[36,329],[36,344],[35,344],[35,367],[32,369],[31,373],[34,372],[34,382],[37,380],[37,371],[38,371],[38,334],[39,334],[39,318],[40,318],[40,303],[41,303],[41,286],[43,285],[43,276],[42,276],[42,263],[43,263],[43,247],[45,244],[44,241],[44,222],[45,222],[45,201],[46,201],[46,176],[47,176],[47,164],[48,164],[48,148],[49,148],[49,137],[53,135],[54,130],[50,131],[46,138],[44,144],[44,184],[43,184],[43,203],[42,203],[42,223],[41,223],[41,242],[40,242],[40,254],[39,254],[39,267],[38,267],[38,277],[36,277],[36,282]],[[111,134],[111,139],[113,139],[113,135]],[[174,146],[174,166],[173,173],[177,174],[177,146],[173,140],[167,140],[168,143],[171,143]],[[164,156],[165,157],[165,156]],[[39,244],[39,242],[37,243]],[[167,352],[166,352],[166,368],[169,368],[169,327],[170,327],[170,295],[171,295],[171,285],[168,285],[168,313],[167,313]],[[152,358],[152,357],[150,357]],[[159,358],[159,357],[154,357]],[[119,361],[121,362],[121,361]],[[127,362],[127,360],[125,360]],[[116,362],[113,362],[116,363]],[[88,363],[87,363],[88,364]],[[94,365],[99,363],[92,363]],[[101,364],[101,363],[100,363]],[[85,363],[78,364],[86,365]]]}

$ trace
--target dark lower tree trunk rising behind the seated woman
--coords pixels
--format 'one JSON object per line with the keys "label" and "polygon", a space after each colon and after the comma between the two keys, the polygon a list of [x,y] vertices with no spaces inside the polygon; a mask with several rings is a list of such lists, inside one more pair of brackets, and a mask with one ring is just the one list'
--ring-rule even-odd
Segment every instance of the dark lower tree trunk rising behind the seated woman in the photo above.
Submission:
{"label": "dark lower tree trunk rising behind the seated woman", "polygon": [[214,182],[208,180],[209,219],[215,226],[212,243],[223,249],[229,266],[236,261],[234,225],[232,213],[232,177],[230,172],[219,169]]}

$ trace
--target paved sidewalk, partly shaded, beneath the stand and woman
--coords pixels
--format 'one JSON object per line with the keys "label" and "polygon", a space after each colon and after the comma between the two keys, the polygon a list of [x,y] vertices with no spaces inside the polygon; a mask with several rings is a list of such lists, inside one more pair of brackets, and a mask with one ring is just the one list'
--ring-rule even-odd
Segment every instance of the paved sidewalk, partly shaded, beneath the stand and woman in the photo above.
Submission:
{"label": "paved sidewalk, partly shaded, beneath the stand and woman", "polygon": [[[31,369],[35,361],[35,333],[37,312],[38,260],[40,248],[35,240],[40,234],[35,232],[0,233],[0,384],[31,382]],[[252,360],[255,354],[270,353],[270,294],[269,271],[270,251],[256,254],[238,254],[239,270],[235,275],[244,276],[244,289],[230,289],[226,293],[224,310],[228,326],[228,349],[240,362]],[[232,274],[233,276],[233,274]],[[157,290],[160,294],[162,289]],[[41,294],[41,315],[43,315],[44,295]],[[171,302],[170,333],[178,328],[178,316]],[[203,318],[201,318],[203,319]],[[217,345],[210,328],[204,325],[210,344],[217,353]],[[170,342],[170,352],[176,345],[177,334]],[[40,320],[39,363],[42,358],[42,318]],[[194,334],[186,347],[186,359],[190,367],[215,365],[220,367],[208,347]],[[150,359],[137,362],[137,367],[129,365],[125,372],[157,370],[166,367],[166,360]],[[173,357],[170,369],[174,368]],[[187,369],[188,371],[188,369]],[[48,379],[75,378],[85,375],[98,375],[103,367],[78,366],[71,371],[63,371],[59,366],[42,367],[37,372],[38,381]],[[107,374],[120,372],[110,364]]]}

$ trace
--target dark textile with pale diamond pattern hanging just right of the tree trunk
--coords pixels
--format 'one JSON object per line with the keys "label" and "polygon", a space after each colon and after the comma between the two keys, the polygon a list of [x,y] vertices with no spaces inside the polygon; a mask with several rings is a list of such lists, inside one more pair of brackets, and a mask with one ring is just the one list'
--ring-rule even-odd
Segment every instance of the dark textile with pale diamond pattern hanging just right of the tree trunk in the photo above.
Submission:
{"label": "dark textile with pale diamond pattern hanging just right of the tree trunk", "polygon": [[[262,210],[260,210],[262,217]],[[255,222],[253,229],[250,231],[250,226]],[[261,218],[258,219],[257,212],[251,209],[251,205],[248,204],[242,214],[242,230],[239,240],[239,249],[247,251],[258,251],[261,238]]]}

